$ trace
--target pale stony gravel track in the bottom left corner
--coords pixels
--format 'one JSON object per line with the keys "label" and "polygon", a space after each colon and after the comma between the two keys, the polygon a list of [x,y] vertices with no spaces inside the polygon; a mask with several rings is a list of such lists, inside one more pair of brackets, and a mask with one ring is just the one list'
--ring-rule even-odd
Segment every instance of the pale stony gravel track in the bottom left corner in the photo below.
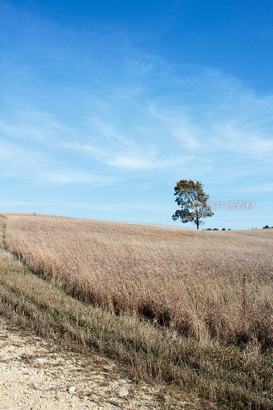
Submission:
{"label": "pale stony gravel track in the bottom left corner", "polygon": [[0,318],[0,410],[212,408],[135,385],[119,365],[97,355],[65,351],[53,340]]}

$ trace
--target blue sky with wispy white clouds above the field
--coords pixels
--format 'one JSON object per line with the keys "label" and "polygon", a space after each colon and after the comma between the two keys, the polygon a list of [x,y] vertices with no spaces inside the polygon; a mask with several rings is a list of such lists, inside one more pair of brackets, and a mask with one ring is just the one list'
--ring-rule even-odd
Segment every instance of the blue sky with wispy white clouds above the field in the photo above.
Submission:
{"label": "blue sky with wispy white clouds above the field", "polygon": [[0,210],[181,226],[191,178],[204,228],[273,225],[269,1],[0,7]]}

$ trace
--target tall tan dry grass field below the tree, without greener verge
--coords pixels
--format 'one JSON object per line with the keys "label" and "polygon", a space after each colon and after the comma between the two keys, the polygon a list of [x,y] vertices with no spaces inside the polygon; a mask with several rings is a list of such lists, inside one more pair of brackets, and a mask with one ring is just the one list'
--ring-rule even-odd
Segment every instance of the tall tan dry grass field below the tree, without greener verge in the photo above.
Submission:
{"label": "tall tan dry grass field below the tree, without greener verge", "polygon": [[7,249],[73,295],[183,334],[273,341],[273,230],[7,215]]}

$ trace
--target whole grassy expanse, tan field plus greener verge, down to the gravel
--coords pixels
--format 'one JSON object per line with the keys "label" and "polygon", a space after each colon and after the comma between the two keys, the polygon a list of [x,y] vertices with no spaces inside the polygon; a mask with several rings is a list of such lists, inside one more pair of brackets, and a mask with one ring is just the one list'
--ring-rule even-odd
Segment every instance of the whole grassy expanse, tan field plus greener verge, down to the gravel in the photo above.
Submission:
{"label": "whole grassy expanse, tan field plus greener verge, down to the gravel", "polygon": [[136,378],[224,408],[273,408],[273,230],[5,216],[20,261],[5,256],[2,312],[114,355]]}

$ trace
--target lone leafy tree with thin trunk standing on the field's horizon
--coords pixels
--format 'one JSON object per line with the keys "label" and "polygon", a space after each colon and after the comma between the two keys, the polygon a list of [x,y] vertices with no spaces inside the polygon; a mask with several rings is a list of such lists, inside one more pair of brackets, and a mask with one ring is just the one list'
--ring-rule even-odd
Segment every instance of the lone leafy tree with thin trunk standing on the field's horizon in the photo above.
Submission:
{"label": "lone leafy tree with thin trunk standing on the field's horizon", "polygon": [[201,182],[181,179],[176,182],[174,195],[175,201],[181,208],[175,211],[174,221],[180,218],[183,223],[194,222],[199,229],[199,225],[204,223],[201,218],[213,216],[211,208],[206,204],[209,196],[204,193]]}

